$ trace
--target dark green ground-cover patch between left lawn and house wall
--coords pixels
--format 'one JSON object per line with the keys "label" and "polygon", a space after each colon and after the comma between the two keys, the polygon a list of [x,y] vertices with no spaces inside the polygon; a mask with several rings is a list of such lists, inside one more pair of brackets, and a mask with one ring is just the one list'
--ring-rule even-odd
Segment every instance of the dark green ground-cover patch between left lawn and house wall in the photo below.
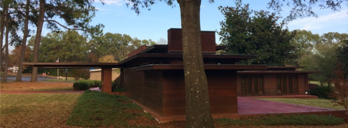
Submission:
{"label": "dark green ground-cover patch between left lawn and house wall", "polygon": [[[149,113],[133,103],[126,96],[110,95],[86,90],[79,98],[67,124],[79,127],[139,127],[141,118],[155,121]],[[156,122],[156,121],[155,121]],[[150,126],[143,126],[150,127]]]}

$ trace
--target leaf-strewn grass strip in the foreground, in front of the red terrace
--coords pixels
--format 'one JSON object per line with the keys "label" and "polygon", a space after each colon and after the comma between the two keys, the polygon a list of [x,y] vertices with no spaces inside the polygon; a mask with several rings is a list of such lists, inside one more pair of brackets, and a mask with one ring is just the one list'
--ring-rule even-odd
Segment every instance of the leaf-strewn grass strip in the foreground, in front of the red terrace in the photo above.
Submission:
{"label": "leaf-strewn grass strip in the foreground, in front of the red terrace", "polygon": [[219,126],[332,126],[343,124],[343,119],[318,115],[276,115],[263,117],[245,117],[239,120],[215,119]]}

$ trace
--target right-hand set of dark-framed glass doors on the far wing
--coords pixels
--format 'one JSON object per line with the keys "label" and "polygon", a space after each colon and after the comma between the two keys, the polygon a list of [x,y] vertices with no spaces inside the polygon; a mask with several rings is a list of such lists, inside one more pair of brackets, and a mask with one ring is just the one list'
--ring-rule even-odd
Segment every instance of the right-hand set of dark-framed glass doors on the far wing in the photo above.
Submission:
{"label": "right-hand set of dark-framed glass doors on the far wing", "polygon": [[297,75],[277,76],[277,94],[298,93]]}

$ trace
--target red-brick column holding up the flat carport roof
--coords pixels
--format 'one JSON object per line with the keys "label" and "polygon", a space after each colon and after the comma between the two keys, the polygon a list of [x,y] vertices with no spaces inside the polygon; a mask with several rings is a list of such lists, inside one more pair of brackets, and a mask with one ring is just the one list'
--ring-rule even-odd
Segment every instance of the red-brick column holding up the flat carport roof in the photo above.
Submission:
{"label": "red-brick column holding up the flat carport roof", "polygon": [[111,79],[112,79],[112,73],[111,68],[102,68],[101,69],[101,91],[105,93],[111,94]]}

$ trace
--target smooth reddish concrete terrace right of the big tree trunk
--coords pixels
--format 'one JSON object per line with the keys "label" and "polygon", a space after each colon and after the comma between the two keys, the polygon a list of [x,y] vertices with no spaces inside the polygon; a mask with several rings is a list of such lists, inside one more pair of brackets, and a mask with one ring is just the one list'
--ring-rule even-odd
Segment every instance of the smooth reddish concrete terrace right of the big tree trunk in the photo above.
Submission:
{"label": "smooth reddish concrete terrace right of the big tree trunk", "polygon": [[249,97],[238,97],[238,114],[271,114],[271,113],[298,113],[332,111],[334,109],[287,104],[281,102],[253,99]]}

